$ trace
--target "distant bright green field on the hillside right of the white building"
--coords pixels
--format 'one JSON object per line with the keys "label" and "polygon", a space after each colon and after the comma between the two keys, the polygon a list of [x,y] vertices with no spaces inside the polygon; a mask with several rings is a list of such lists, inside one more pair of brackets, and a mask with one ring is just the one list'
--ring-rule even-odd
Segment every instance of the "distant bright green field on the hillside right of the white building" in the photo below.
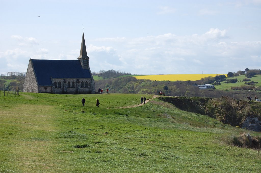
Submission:
{"label": "distant bright green field on the hillside right of the white building", "polygon": [[[236,76],[236,77],[233,77],[233,78],[226,78],[226,79],[235,79],[237,78],[238,79],[238,82],[237,83],[228,83],[228,84],[223,84],[223,82],[220,82],[221,85],[215,85],[215,88],[216,89],[222,89],[222,90],[231,90],[231,87],[236,87],[236,86],[244,86],[246,85],[245,82],[242,82],[243,79],[246,78],[245,75],[239,75],[239,76]],[[261,75],[256,75],[255,77],[252,77],[252,78],[249,78],[251,81],[254,81],[254,82],[258,82],[257,84],[255,84],[254,86],[256,87],[260,87],[261,86]],[[240,82],[241,81],[241,82]]]}

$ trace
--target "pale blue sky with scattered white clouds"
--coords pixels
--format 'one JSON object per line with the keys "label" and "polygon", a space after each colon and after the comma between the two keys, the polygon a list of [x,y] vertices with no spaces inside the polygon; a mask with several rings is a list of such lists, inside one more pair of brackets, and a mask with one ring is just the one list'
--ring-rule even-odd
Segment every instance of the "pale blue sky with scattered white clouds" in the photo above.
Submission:
{"label": "pale blue sky with scattered white clouds", "polygon": [[92,72],[227,74],[261,69],[261,0],[0,0],[0,73],[29,59],[77,60]]}

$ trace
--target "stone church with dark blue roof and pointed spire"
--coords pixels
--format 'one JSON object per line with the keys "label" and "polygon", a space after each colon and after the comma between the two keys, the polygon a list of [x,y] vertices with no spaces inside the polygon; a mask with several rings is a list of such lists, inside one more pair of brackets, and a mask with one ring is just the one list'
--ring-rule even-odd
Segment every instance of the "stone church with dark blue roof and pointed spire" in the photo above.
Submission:
{"label": "stone church with dark blue roof and pointed spire", "polygon": [[29,60],[23,92],[95,94],[84,33],[78,60]]}

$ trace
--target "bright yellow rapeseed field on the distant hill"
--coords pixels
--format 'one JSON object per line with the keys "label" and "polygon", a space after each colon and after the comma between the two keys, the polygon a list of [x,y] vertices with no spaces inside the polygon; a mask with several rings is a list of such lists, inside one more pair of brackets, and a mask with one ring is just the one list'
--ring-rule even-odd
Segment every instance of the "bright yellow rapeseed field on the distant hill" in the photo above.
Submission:
{"label": "bright yellow rapeseed field on the distant hill", "polygon": [[[169,80],[169,81],[195,81],[200,80],[201,78],[205,78],[208,76],[215,77],[216,75],[221,74],[159,74],[159,75],[144,75],[144,76],[135,76],[137,79],[150,79],[150,80]],[[227,76],[227,74],[224,74]]]}

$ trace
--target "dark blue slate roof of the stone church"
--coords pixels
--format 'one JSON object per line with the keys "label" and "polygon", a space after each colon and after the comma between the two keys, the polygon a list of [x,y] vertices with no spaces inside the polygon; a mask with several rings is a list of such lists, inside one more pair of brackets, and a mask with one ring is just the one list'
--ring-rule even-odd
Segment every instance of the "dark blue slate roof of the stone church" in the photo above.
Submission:
{"label": "dark blue slate roof of the stone church", "polygon": [[91,78],[88,69],[82,69],[79,60],[32,60],[38,84],[52,85],[52,78]]}

